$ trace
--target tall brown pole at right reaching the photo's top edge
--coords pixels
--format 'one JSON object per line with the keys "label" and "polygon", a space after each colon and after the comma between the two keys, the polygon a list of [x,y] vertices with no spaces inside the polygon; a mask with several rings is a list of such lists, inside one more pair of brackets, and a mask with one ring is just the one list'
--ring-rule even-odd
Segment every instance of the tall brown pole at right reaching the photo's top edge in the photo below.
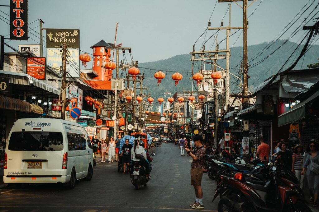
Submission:
{"label": "tall brown pole at right reaching the photo's top edge", "polygon": [[[243,88],[243,95],[247,96],[248,95],[248,49],[247,49],[247,0],[243,0],[243,37],[244,37],[244,43],[243,43],[243,83],[244,83],[244,88]],[[248,98],[244,98],[244,105],[248,104]]]}

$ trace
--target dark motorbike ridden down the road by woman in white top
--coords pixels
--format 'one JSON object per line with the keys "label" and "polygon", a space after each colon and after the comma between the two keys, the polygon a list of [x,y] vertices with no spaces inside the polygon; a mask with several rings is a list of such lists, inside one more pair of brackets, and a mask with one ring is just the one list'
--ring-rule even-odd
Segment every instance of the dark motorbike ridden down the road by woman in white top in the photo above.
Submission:
{"label": "dark motorbike ridden down the road by woman in white top", "polygon": [[[155,153],[150,154],[150,156],[155,156]],[[147,186],[147,183],[149,181],[148,178],[146,178],[146,171],[144,166],[138,163],[138,161],[132,161],[133,166],[133,173],[131,178],[131,183],[134,185],[136,190],[139,190],[141,185]],[[150,171],[152,170],[152,164],[150,164]]]}

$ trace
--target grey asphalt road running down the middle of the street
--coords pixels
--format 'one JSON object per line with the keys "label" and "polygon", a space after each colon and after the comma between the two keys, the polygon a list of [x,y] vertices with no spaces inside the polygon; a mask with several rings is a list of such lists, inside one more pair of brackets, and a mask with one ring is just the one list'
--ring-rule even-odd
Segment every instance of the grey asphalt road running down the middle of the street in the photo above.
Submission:
{"label": "grey asphalt road running down the middle of the street", "polygon": [[[91,181],[77,181],[73,190],[57,185],[31,185],[21,189],[0,189],[0,211],[196,211],[190,185],[191,158],[180,156],[174,144],[156,147],[152,180],[135,190],[129,174],[117,172],[117,163],[100,163]],[[204,209],[216,211],[218,200],[211,202],[216,182],[204,173]],[[199,210],[198,210],[199,211]]]}

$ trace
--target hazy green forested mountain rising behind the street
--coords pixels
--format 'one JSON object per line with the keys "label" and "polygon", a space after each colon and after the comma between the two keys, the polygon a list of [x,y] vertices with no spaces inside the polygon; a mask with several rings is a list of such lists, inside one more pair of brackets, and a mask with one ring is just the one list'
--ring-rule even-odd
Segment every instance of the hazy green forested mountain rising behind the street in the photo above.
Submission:
{"label": "hazy green forested mountain rising behind the street", "polygon": [[[281,46],[285,40],[278,40],[274,42],[267,50],[263,50],[269,43],[264,42],[257,45],[248,46],[248,60],[249,60],[249,72],[248,75],[250,76],[248,80],[249,90],[253,90],[254,87],[262,83],[264,80],[268,79],[271,75],[276,74],[279,69],[284,65],[286,60],[291,56],[291,54],[295,51],[295,53],[290,57],[287,64],[284,66],[282,70],[289,67],[299,56],[303,45],[299,47],[297,43],[287,41],[283,46]],[[279,46],[281,46],[276,52],[274,52]],[[264,51],[264,52],[263,52]],[[242,46],[233,47],[231,48],[231,57],[230,57],[230,68],[231,73],[237,74],[240,68],[240,62],[242,60]],[[254,59],[254,56],[258,53],[263,52]],[[273,53],[274,52],[274,53]],[[270,55],[270,56],[269,56]],[[269,56],[269,57],[268,57]],[[266,58],[264,61],[263,59]],[[319,57],[319,45],[313,45],[305,54],[304,57],[300,59],[298,64],[294,69],[301,69],[301,68],[308,68],[307,65],[311,63],[317,62]],[[191,55],[190,54],[181,54],[176,55],[174,57],[168,58],[166,60],[159,60],[154,62],[145,62],[139,63],[139,67],[141,70],[141,74],[145,74],[144,85],[148,86],[149,90],[144,91],[143,93],[148,94],[150,93],[154,97],[164,97],[165,92],[170,92],[174,94],[176,91],[191,90],[191,83],[192,79],[190,80],[191,76]],[[222,68],[225,68],[225,60],[217,61],[218,64]],[[260,63],[260,64],[259,64]],[[200,69],[200,62],[194,63],[194,73]],[[238,65],[239,64],[239,65]],[[208,67],[207,67],[208,66]],[[206,64],[206,69],[210,69],[210,65]],[[175,82],[172,80],[171,75],[172,72],[165,72],[165,78],[162,80],[161,84],[157,86],[157,80],[154,78],[155,70],[167,70],[167,71],[178,71],[178,72],[188,72],[188,73],[181,73],[183,75],[183,79],[179,81],[179,84],[175,87]],[[218,69],[217,69],[218,70]],[[241,74],[242,78],[242,74]],[[237,80],[236,78],[231,76],[231,84],[232,88],[238,87],[236,86]],[[196,83],[195,83],[196,85]],[[238,88],[237,88],[238,89]],[[195,89],[194,89],[195,90]],[[155,99],[155,98],[154,98]]]}

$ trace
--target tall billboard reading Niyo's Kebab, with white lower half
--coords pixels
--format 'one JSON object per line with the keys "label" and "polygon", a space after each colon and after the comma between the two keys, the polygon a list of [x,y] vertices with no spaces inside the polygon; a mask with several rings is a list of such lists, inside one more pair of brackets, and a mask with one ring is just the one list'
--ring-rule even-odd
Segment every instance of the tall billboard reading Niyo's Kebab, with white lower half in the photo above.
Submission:
{"label": "tall billboard reading Niyo's Kebab, with white lower half", "polygon": [[67,77],[80,77],[80,30],[78,29],[46,29],[47,63],[56,69],[57,74],[62,66],[60,55],[61,44],[67,44],[68,60]]}

